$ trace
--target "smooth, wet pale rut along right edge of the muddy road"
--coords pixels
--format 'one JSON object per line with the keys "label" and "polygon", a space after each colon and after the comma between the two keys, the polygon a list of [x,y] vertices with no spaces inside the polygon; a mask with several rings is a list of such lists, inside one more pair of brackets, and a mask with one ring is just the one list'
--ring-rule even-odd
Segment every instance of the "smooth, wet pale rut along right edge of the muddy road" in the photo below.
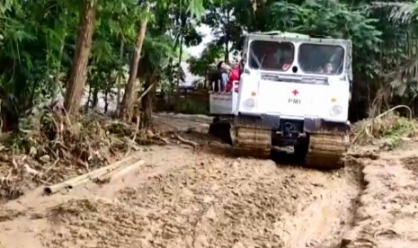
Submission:
{"label": "smooth, wet pale rut along right edge of the muddy road", "polygon": [[328,181],[326,187],[315,191],[315,200],[302,205],[298,217],[286,218],[291,235],[284,247],[341,247],[358,207],[362,190],[360,172],[359,162],[346,158],[345,168],[336,173],[339,180]]}

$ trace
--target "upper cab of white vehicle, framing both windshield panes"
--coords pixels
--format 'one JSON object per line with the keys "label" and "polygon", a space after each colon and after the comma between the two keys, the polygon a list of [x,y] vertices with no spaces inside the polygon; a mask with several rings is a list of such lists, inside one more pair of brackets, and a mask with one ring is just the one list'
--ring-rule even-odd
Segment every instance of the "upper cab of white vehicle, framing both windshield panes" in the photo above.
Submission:
{"label": "upper cab of white vehicle, framing both windshield panes", "polygon": [[291,75],[342,75],[350,81],[351,40],[311,38],[291,32],[245,35],[242,66]]}

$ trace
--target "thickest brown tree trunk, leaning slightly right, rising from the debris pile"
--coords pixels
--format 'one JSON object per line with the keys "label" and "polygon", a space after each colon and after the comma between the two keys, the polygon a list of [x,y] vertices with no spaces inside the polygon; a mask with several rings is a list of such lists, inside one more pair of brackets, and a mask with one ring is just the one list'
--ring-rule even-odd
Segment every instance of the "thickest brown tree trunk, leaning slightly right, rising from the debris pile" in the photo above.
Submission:
{"label": "thickest brown tree trunk, leaning slightly right, rising from the debris pile", "polygon": [[73,58],[71,75],[64,102],[68,114],[73,116],[78,113],[80,108],[81,98],[84,93],[84,84],[87,79],[86,70],[92,49],[96,3],[96,1],[84,0],[83,10],[80,14],[80,28],[77,34],[76,52]]}

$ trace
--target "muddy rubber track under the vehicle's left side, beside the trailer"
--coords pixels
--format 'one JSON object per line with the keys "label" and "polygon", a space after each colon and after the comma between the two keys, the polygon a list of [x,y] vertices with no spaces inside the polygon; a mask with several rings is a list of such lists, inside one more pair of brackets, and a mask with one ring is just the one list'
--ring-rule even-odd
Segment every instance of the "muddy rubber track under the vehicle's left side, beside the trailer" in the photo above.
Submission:
{"label": "muddy rubber track under the vehicle's left side, beside the trailer", "polygon": [[235,155],[270,158],[271,129],[239,125],[231,128],[231,137]]}

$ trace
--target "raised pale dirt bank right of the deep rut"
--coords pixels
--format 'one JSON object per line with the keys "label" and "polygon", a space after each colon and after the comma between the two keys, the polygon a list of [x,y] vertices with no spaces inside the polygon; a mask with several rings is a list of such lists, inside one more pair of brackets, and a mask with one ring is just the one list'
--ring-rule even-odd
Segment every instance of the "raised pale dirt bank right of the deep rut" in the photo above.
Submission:
{"label": "raised pale dirt bank right of the deep rut", "polygon": [[365,188],[346,247],[418,247],[418,143],[362,164]]}

